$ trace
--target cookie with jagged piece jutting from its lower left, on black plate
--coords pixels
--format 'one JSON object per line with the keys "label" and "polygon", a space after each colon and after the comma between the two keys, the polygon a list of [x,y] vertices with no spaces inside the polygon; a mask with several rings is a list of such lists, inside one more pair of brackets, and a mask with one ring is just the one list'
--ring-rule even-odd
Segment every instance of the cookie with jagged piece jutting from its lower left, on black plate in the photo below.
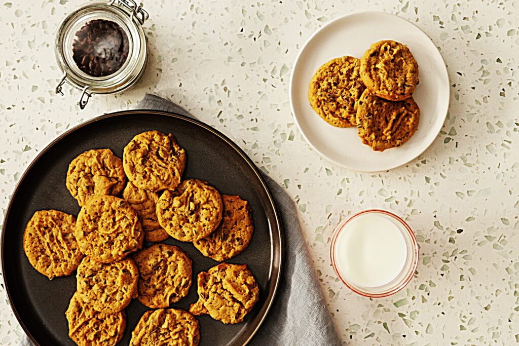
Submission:
{"label": "cookie with jagged piece jutting from its lower left, on black plate", "polygon": [[222,263],[198,274],[199,301],[189,312],[205,313],[225,324],[240,323],[260,296],[260,288],[247,265]]}

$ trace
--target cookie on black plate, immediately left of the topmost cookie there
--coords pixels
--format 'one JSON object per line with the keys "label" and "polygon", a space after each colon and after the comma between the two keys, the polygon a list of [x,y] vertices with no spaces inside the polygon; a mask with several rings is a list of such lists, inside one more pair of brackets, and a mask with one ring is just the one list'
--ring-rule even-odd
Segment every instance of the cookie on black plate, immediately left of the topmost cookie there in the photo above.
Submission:
{"label": "cookie on black plate, immediately left of the topmost cookie there", "polygon": [[122,161],[110,149],[85,151],[72,160],[66,174],[66,188],[79,206],[94,195],[118,195],[125,182]]}

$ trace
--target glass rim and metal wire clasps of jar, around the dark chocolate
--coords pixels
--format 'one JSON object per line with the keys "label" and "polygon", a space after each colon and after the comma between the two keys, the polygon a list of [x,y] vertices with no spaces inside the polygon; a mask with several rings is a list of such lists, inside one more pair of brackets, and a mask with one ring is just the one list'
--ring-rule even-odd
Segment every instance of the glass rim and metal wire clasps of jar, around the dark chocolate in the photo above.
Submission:
{"label": "glass rim and metal wire clasps of jar, around the dark chocolate", "polygon": [[[78,105],[85,108],[91,94],[110,94],[125,91],[138,82],[144,74],[147,51],[146,36],[142,24],[148,13],[133,0],[89,2],[70,12],[61,21],[56,34],[56,59],[63,73],[56,93],[63,95],[62,88],[68,84],[81,90]],[[128,57],[120,68],[106,76],[92,76],[73,59],[73,42],[77,32],[94,20],[114,23],[128,38]]]}

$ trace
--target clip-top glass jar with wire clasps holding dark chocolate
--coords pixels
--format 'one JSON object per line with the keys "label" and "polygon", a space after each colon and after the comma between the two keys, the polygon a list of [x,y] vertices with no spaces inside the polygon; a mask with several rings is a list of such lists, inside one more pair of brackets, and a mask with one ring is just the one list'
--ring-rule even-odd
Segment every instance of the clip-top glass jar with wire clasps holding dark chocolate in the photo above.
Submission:
{"label": "clip-top glass jar with wire clasps holding dark chocolate", "polygon": [[81,91],[84,109],[92,94],[119,93],[143,76],[148,13],[133,0],[89,2],[70,12],[56,34],[56,59],[63,77],[56,93],[68,84]]}

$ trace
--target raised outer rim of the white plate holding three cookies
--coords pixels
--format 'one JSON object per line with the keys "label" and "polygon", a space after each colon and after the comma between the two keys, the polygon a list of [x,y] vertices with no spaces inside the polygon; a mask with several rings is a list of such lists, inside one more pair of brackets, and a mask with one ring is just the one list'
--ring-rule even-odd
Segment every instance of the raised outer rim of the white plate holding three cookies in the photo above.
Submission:
{"label": "raised outer rim of the white plate holding three cookies", "polygon": [[[386,169],[383,169],[383,170],[361,170],[361,169],[357,169],[357,168],[354,168],[352,166],[348,166],[342,162],[339,162],[337,160],[334,160],[333,158],[331,158],[330,156],[324,154],[321,150],[319,150],[307,137],[307,135],[305,134],[305,132],[302,130],[301,128],[301,124],[299,124],[299,121],[297,120],[297,116],[296,116],[296,112],[295,112],[295,109],[294,109],[294,85],[293,85],[293,80],[294,80],[294,75],[295,75],[295,71],[296,71],[296,67],[297,67],[297,64],[299,63],[299,59],[301,58],[301,55],[303,53],[303,51],[306,49],[307,45],[310,43],[310,41],[313,40],[313,38],[318,34],[320,33],[322,30],[324,30],[327,26],[330,26],[332,25],[333,23],[337,22],[337,21],[340,21],[340,20],[344,20],[348,17],[353,17],[353,16],[360,16],[360,15],[370,15],[370,14],[376,14],[376,15],[385,15],[385,16],[390,16],[390,17],[397,17],[401,20],[405,20],[406,22],[414,25],[416,27],[416,29],[418,29],[422,34],[424,34],[430,41],[431,43],[434,45],[434,47],[436,48],[436,51],[438,52],[439,56],[440,56],[440,59],[441,61],[443,62],[442,66],[443,68],[441,69],[441,73],[445,75],[446,79],[447,79],[447,86],[449,88],[449,92],[447,93],[447,100],[446,100],[446,104],[447,104],[447,110],[445,112],[445,115],[443,116],[443,121],[442,121],[442,124],[441,126],[438,128],[438,131],[436,132],[435,136],[432,137],[432,140],[430,143],[428,143],[424,149],[419,153],[417,154],[416,156],[410,158],[409,160],[407,160],[406,162],[403,162],[403,163],[398,163],[398,164],[393,164],[391,165],[390,167],[386,168]],[[377,173],[377,172],[387,172],[387,171],[390,171],[392,169],[395,169],[395,168],[398,168],[398,167],[401,167],[413,160],[415,160],[418,156],[420,156],[421,154],[424,154],[424,152],[434,143],[434,141],[437,139],[438,137],[438,134],[440,133],[440,131],[442,130],[442,127],[443,127],[443,124],[445,123],[445,119],[447,117],[447,113],[448,113],[448,110],[449,110],[449,107],[450,107],[450,79],[449,79],[449,75],[448,75],[448,70],[447,70],[447,65],[445,64],[445,59],[443,58],[442,56],[442,53],[440,52],[440,50],[438,49],[438,47],[436,47],[436,44],[434,43],[434,41],[431,39],[431,37],[424,31],[422,30],[418,25],[416,25],[415,23],[403,18],[403,17],[400,17],[400,16],[397,16],[397,15],[393,15],[393,13],[388,13],[388,12],[384,12],[384,11],[359,11],[359,12],[352,12],[352,13],[347,13],[346,15],[344,16],[340,16],[340,17],[337,17],[329,22],[327,22],[326,24],[324,24],[323,26],[319,27],[319,29],[317,29],[315,32],[313,32],[310,37],[308,37],[308,39],[305,41],[305,43],[303,44],[303,46],[299,49],[299,51],[297,52],[297,56],[294,60],[294,64],[292,66],[292,71],[290,72],[290,81],[289,81],[289,99],[290,99],[290,109],[292,111],[292,116],[294,118],[294,121],[297,125],[297,128],[299,129],[299,133],[301,133],[303,135],[303,138],[305,139],[305,141],[310,145],[310,147],[316,151],[316,153],[318,153],[321,157],[325,158],[326,160],[338,165],[339,167],[344,167],[346,169],[349,169],[349,170],[352,170],[352,171],[355,171],[355,172],[363,172],[363,173]]]}

